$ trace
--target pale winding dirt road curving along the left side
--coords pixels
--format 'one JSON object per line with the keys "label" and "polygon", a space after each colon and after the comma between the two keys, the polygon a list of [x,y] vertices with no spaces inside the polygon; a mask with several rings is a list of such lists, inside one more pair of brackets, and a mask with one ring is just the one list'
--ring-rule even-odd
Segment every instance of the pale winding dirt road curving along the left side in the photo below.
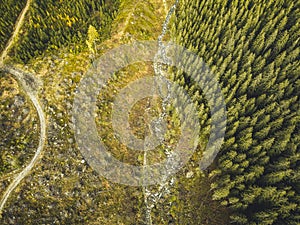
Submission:
{"label": "pale winding dirt road curving along the left side", "polygon": [[[31,169],[34,167],[34,165],[36,164],[36,162],[42,155],[42,150],[44,148],[45,141],[46,141],[45,114],[44,114],[44,111],[43,111],[39,101],[38,101],[37,94],[36,94],[34,88],[30,87],[30,85],[27,84],[26,75],[29,76],[29,74],[25,74],[24,72],[22,72],[20,70],[16,70],[16,69],[13,69],[11,67],[4,65],[4,59],[6,58],[10,48],[14,44],[14,41],[20,32],[20,29],[24,22],[25,14],[27,13],[31,2],[32,2],[32,0],[27,0],[26,6],[22,10],[21,14],[19,15],[19,17],[16,21],[16,25],[15,25],[13,34],[10,37],[10,39],[8,40],[5,49],[3,50],[3,52],[0,55],[0,70],[14,75],[19,80],[25,93],[28,95],[28,97],[32,101],[34,107],[36,108],[36,111],[38,113],[39,120],[40,120],[40,139],[39,139],[39,145],[36,150],[36,153],[35,153],[34,157],[32,158],[32,160],[30,161],[30,163],[24,168],[24,170],[22,170],[22,172],[20,172],[14,178],[14,180],[11,182],[11,184],[8,186],[8,188],[5,190],[3,196],[0,200],[0,217],[1,217],[4,205],[7,201],[7,199],[9,198],[10,194],[14,191],[14,189],[18,186],[18,184],[22,181],[22,179],[29,174]],[[32,76],[32,79],[34,80],[33,76]]]}

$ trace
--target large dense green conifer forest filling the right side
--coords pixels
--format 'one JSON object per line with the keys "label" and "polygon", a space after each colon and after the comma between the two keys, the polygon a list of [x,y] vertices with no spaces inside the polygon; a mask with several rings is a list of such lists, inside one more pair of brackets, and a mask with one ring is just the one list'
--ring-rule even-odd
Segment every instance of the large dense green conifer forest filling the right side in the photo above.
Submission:
{"label": "large dense green conifer forest filling the right side", "polygon": [[[225,142],[209,176],[233,224],[300,223],[299,18],[292,0],[182,0],[176,12],[174,39],[203,58],[225,96]],[[174,79],[202,105],[205,130],[197,83]]]}

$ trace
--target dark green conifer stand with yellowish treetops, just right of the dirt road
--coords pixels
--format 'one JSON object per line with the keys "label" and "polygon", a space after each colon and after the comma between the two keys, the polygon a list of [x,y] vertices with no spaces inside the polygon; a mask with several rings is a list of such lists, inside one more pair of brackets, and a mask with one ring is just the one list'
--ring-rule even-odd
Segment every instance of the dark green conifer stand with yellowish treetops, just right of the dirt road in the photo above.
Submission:
{"label": "dark green conifer stand with yellowish treetops, just right of the dirt road", "polygon": [[118,4],[110,0],[34,0],[11,56],[26,63],[45,51],[62,47],[78,52],[85,47],[89,25],[105,39]]}

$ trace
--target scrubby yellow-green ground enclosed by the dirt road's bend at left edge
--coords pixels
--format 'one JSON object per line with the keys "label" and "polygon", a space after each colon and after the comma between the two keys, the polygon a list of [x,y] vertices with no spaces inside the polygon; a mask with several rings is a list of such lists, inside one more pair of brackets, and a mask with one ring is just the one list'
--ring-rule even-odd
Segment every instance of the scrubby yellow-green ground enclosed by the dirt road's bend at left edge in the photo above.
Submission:
{"label": "scrubby yellow-green ground enclosed by the dirt road's bend at left edge", "polygon": [[38,118],[27,96],[10,75],[0,73],[0,176],[32,158],[39,137]]}

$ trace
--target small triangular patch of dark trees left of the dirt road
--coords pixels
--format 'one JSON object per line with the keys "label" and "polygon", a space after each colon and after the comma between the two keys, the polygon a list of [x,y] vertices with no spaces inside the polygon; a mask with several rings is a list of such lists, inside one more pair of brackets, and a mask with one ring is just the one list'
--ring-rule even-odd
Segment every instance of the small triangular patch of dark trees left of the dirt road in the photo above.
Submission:
{"label": "small triangular patch of dark trees left of the dirt road", "polygon": [[26,5],[26,0],[3,0],[0,4],[0,52],[12,35],[15,22]]}

